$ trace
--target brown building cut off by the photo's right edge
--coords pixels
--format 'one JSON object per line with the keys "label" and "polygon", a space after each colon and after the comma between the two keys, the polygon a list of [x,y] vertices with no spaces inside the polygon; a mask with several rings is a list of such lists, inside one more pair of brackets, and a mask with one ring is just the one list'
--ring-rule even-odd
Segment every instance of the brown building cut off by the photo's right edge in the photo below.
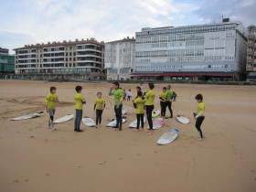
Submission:
{"label": "brown building cut off by the photo's right edge", "polygon": [[248,27],[247,43],[247,80],[256,80],[256,27]]}

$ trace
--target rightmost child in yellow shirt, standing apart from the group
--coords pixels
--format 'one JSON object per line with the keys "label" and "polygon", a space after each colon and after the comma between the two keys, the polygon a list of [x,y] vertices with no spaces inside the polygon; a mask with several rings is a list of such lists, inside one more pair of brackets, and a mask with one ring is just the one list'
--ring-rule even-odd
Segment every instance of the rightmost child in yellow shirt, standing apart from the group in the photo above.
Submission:
{"label": "rightmost child in yellow shirt, standing apart from the group", "polygon": [[197,131],[200,135],[200,137],[197,139],[198,141],[203,141],[204,140],[204,136],[201,130],[201,124],[203,123],[204,119],[205,119],[205,103],[203,102],[203,96],[201,94],[197,94],[196,96],[196,101],[198,104],[197,107],[197,113],[194,112],[194,118],[196,120],[196,128]]}

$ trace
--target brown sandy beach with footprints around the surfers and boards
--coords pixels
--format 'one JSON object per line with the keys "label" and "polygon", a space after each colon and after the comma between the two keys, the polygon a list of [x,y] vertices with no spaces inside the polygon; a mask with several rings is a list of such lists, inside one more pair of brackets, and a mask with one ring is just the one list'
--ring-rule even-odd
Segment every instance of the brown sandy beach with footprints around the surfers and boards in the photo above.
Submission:
{"label": "brown sandy beach with footprints around the surfers and boards", "polygon": [[[50,86],[58,88],[60,100],[55,119],[74,114],[76,85],[84,88],[83,114],[91,117],[96,93],[102,91],[107,108],[101,128],[81,123],[85,132],[75,133],[71,120],[56,124],[58,131],[52,132],[48,113],[10,121],[44,111]],[[135,95],[137,85],[121,86]],[[157,96],[163,86],[155,86]],[[128,128],[135,119],[132,101],[123,103],[128,123],[123,123],[122,132],[105,126],[114,118],[110,87],[107,83],[0,80],[0,191],[256,191],[256,87],[173,84],[178,95],[174,115],[184,114],[191,123],[165,120],[153,135]],[[182,136],[197,133],[192,117],[197,93],[203,94],[206,104],[203,142]],[[158,99],[155,108],[160,109]],[[180,132],[176,141],[157,145],[157,139],[172,128]]]}

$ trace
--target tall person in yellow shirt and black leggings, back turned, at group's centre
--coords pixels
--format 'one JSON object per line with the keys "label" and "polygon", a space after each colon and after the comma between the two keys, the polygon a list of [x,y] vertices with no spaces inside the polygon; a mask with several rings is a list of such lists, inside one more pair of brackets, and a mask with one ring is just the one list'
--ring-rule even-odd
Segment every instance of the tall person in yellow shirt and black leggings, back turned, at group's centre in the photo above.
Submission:
{"label": "tall person in yellow shirt and black leggings, back turned, at group's centre", "polygon": [[155,88],[154,83],[149,82],[148,88],[150,89],[150,91],[144,92],[144,96],[143,96],[143,99],[146,100],[145,112],[146,112],[146,118],[149,125],[149,131],[146,134],[152,134],[153,133],[152,112],[154,110],[154,101],[155,101],[155,91],[153,91],[153,89]]}

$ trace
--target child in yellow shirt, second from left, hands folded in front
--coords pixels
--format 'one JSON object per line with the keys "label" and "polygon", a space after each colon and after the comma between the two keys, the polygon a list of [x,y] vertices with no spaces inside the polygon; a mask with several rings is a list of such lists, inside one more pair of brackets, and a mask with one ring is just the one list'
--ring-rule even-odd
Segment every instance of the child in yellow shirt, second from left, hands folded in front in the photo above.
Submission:
{"label": "child in yellow shirt, second from left, hands folded in front", "polygon": [[75,101],[76,101],[76,119],[75,119],[75,132],[83,132],[83,130],[80,129],[80,121],[82,118],[82,106],[86,103],[83,96],[81,95],[82,87],[77,86],[76,87],[77,93],[75,94]]}

